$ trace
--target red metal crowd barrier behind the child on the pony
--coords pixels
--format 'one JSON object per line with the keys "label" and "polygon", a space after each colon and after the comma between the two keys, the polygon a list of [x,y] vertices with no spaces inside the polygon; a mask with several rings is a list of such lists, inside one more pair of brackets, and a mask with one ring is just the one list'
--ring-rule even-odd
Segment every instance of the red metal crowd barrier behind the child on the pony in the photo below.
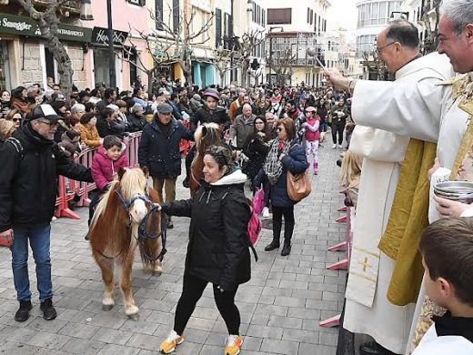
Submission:
{"label": "red metal crowd barrier behind the child on the pony", "polygon": [[[128,152],[130,167],[138,167],[138,146],[141,139],[141,132],[130,133],[124,140]],[[85,167],[92,167],[92,159],[97,148],[86,147],[82,150],[75,162]],[[75,181],[65,177],[59,177],[58,196],[55,200],[55,217],[69,217],[79,219],[80,217],[69,208],[69,201],[78,199],[76,207],[88,206],[90,203],[89,193],[96,188],[96,183]],[[67,186],[68,185],[68,186]],[[67,187],[66,187],[67,186]]]}

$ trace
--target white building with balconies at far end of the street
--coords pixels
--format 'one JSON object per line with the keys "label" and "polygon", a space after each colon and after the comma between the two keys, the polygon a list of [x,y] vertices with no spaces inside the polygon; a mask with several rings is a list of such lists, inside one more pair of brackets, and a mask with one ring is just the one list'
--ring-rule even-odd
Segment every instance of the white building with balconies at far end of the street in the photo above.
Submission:
{"label": "white building with balconies at far end of the street", "polygon": [[[326,0],[304,0],[297,4],[271,1],[267,9],[267,81],[283,84],[320,86],[326,60],[323,37],[327,31]],[[309,56],[315,48],[317,58]]]}

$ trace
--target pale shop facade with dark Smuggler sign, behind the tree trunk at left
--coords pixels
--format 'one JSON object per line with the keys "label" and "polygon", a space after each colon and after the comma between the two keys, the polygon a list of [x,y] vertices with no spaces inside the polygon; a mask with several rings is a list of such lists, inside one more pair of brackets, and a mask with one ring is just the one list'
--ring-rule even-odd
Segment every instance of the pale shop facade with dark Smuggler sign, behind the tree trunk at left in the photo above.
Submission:
{"label": "pale shop facade with dark Smuggler sign, behind the tree trunk at left", "polygon": [[[41,8],[41,7],[39,7]],[[0,87],[40,84],[46,87],[47,77],[59,82],[57,64],[45,47],[34,19],[17,15],[19,5],[4,1],[0,5]],[[72,60],[76,86],[87,85],[86,50],[92,31],[78,20],[80,2],[69,2],[59,14],[59,39]]]}

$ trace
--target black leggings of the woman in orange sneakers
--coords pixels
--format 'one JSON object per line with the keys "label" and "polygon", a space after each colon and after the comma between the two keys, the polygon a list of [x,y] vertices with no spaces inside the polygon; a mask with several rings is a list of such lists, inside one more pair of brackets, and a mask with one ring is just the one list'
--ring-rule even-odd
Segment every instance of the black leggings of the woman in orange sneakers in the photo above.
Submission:
{"label": "black leggings of the woman in orange sneakers", "polygon": [[[184,333],[187,322],[194,312],[194,309],[196,309],[197,301],[202,297],[207,283],[206,280],[199,279],[188,273],[184,275],[182,295],[177,302],[176,316],[174,319],[174,330],[177,334],[182,335]],[[220,292],[220,289],[217,289],[216,285],[214,285],[216,308],[225,320],[226,329],[230,335],[239,335],[240,333],[240,312],[235,304],[237,289]]]}

